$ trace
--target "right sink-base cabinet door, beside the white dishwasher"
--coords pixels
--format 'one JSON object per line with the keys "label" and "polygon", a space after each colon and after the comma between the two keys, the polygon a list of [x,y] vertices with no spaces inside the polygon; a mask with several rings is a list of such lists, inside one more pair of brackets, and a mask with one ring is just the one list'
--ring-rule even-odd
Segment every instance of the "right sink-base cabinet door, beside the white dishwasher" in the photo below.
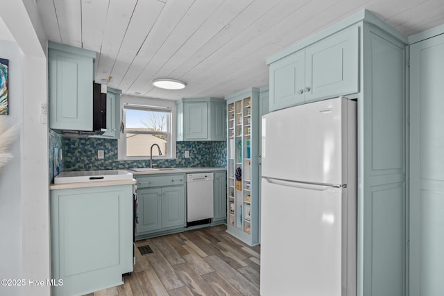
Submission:
{"label": "right sink-base cabinet door, beside the white dishwasher", "polygon": [[162,228],[185,226],[185,190],[182,186],[162,189]]}

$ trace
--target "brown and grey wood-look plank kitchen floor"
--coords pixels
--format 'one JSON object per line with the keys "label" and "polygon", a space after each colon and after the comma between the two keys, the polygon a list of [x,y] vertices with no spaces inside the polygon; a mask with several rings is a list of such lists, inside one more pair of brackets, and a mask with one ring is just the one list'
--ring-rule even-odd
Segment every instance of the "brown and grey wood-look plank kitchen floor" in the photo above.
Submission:
{"label": "brown and grey wood-look plank kitchen floor", "polygon": [[259,295],[260,246],[249,247],[226,226],[137,241],[134,272],[125,284],[87,296]]}

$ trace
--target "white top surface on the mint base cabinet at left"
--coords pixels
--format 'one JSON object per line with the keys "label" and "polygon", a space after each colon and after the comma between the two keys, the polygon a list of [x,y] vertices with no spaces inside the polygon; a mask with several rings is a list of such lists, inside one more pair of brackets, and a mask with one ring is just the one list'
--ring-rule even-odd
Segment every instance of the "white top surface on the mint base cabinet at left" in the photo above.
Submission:
{"label": "white top surface on the mint base cabinet at left", "polygon": [[54,177],[54,184],[111,180],[133,180],[133,173],[125,170],[62,172]]}

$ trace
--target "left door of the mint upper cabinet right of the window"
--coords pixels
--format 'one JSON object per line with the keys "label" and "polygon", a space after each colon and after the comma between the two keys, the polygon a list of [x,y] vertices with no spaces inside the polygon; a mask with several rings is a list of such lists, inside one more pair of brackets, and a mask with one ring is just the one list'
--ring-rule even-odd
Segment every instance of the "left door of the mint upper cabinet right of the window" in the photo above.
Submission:
{"label": "left door of the mint upper cabinet right of the window", "polygon": [[207,103],[184,103],[184,139],[208,138]]}

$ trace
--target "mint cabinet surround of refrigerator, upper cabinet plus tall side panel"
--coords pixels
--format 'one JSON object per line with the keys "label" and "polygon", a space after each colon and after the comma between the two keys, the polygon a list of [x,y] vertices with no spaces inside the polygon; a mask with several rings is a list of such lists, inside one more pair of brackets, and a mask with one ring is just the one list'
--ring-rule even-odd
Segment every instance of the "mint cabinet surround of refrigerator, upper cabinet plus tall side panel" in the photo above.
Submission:
{"label": "mint cabinet surround of refrigerator, upper cabinet plus tall side panel", "polygon": [[[357,101],[359,296],[407,291],[407,42],[363,10],[267,59],[271,112],[339,95]],[[304,79],[295,72],[302,62]]]}

